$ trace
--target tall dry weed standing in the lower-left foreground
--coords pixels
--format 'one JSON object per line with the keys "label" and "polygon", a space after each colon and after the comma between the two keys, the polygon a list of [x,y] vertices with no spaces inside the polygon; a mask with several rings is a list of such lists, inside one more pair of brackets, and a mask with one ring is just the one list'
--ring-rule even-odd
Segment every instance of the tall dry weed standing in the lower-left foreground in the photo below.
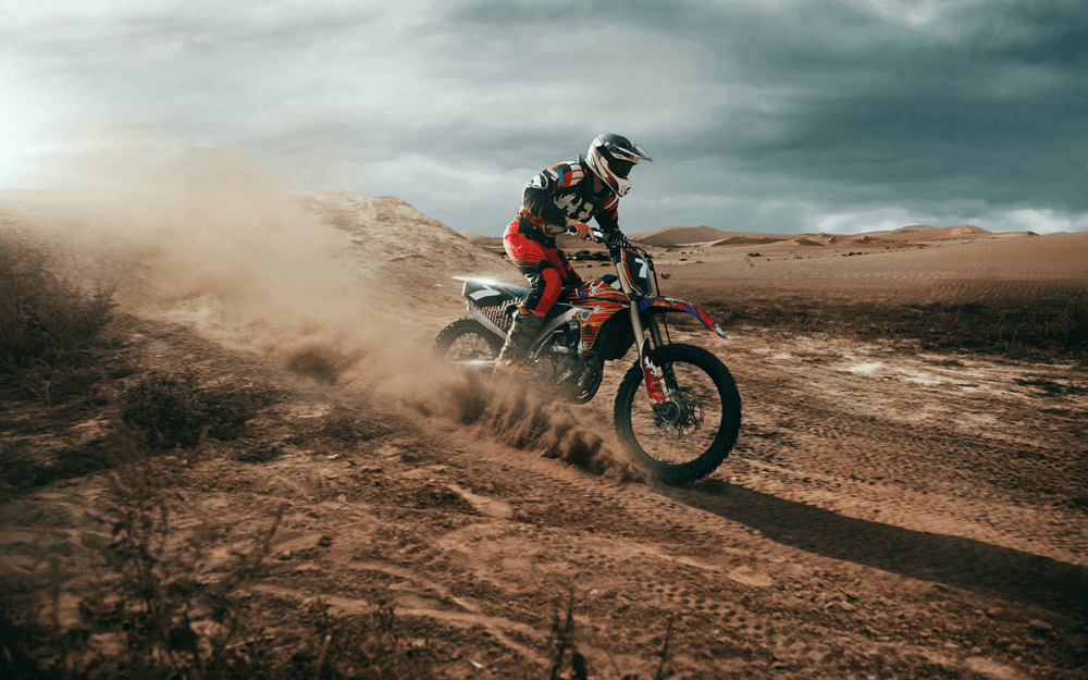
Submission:
{"label": "tall dry weed standing in the lower-left foreground", "polygon": [[109,478],[106,516],[113,539],[104,555],[120,579],[110,597],[85,602],[84,608],[99,627],[125,631],[131,654],[125,665],[141,675],[191,669],[196,677],[208,677],[226,664],[227,646],[245,626],[235,592],[268,556],[283,508],[268,530],[254,536],[248,552],[233,552],[231,568],[214,580],[201,578],[197,566],[211,532],[205,527],[182,540],[173,535],[171,516],[181,498],[169,482],[177,470],[172,461],[149,457],[124,428],[119,441],[127,460]]}

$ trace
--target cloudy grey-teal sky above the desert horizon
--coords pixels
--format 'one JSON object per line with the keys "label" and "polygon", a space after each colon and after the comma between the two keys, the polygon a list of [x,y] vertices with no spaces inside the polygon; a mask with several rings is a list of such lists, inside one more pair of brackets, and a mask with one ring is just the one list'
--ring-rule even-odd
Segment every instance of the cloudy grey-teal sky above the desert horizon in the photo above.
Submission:
{"label": "cloudy grey-teal sky above the desert horizon", "polygon": [[0,187],[139,139],[499,234],[615,132],[628,232],[1088,231],[1083,0],[5,0],[0,92]]}

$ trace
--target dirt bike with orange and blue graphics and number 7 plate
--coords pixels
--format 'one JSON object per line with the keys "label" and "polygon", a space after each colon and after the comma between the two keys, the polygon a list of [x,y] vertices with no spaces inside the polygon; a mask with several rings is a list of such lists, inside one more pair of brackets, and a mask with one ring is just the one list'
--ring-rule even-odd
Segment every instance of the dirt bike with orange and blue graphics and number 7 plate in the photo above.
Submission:
{"label": "dirt bike with orange and blue graphics and number 7 plate", "polygon": [[[650,254],[619,230],[593,236],[607,246],[616,274],[564,289],[527,353],[534,368],[530,382],[557,398],[585,404],[601,386],[605,362],[621,359],[634,346],[638,361],[616,395],[616,434],[636,462],[666,483],[701,479],[737,442],[741,398],[715,355],[671,343],[665,317],[687,312],[722,338],[726,334],[695,305],[660,297]],[[443,329],[432,355],[443,363],[489,372],[529,288],[455,279],[463,282],[470,317]]]}

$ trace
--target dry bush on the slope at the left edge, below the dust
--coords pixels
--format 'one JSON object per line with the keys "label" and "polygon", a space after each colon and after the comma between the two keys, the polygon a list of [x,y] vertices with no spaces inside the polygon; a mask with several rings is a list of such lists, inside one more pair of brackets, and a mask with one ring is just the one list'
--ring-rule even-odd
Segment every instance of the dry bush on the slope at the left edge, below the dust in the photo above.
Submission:
{"label": "dry bush on the slope at the left edge, below the dust", "polygon": [[0,376],[46,401],[85,394],[100,376],[95,349],[112,298],[61,277],[42,246],[0,233]]}

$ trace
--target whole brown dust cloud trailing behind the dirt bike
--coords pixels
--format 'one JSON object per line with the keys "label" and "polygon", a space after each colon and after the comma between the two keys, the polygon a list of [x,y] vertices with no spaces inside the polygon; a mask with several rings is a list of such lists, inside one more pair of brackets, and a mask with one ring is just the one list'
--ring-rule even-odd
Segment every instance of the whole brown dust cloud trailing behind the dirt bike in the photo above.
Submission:
{"label": "whole brown dust cloud trailing behind the dirt bike", "polygon": [[[240,154],[124,143],[54,157],[50,168],[37,182],[44,188],[0,193],[0,219],[47,248],[66,275],[113,287],[123,311],[183,324],[482,438],[597,473],[636,474],[594,433],[598,423],[581,422],[566,405],[429,361],[445,322],[429,321],[428,311],[463,310],[450,290],[436,298],[442,284],[433,282],[503,264],[481,262],[493,256],[467,242],[442,261],[452,245],[443,238],[463,240],[444,225],[388,210],[345,217],[345,201],[372,200],[354,195],[314,210],[316,193],[283,189]],[[398,220],[408,236],[391,235]],[[426,263],[437,263],[430,277],[417,272]]]}

